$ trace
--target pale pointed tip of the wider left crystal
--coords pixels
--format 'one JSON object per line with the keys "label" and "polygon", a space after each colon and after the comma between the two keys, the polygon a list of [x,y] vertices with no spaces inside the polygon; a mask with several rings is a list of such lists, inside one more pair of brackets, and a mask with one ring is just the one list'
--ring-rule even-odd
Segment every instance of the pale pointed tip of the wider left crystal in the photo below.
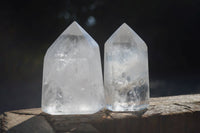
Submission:
{"label": "pale pointed tip of the wider left crystal", "polygon": [[71,23],[62,34],[83,35],[86,31],[76,22]]}

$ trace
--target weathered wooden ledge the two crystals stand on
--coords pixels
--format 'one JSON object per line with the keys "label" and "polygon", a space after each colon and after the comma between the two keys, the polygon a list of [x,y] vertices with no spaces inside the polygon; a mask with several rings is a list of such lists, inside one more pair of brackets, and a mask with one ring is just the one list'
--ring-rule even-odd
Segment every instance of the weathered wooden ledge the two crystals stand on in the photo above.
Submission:
{"label": "weathered wooden ledge the two crystals stand on", "polygon": [[0,115],[0,133],[200,133],[200,94],[151,98],[141,112],[45,114],[40,108]]}

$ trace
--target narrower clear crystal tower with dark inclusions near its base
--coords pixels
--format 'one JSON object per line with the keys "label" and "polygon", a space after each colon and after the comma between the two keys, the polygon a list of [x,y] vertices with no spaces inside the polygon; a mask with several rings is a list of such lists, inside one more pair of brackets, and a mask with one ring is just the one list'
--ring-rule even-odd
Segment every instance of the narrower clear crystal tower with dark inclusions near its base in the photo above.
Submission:
{"label": "narrower clear crystal tower with dark inclusions near its base", "polygon": [[104,87],[109,110],[139,111],[148,106],[147,46],[125,23],[105,43]]}

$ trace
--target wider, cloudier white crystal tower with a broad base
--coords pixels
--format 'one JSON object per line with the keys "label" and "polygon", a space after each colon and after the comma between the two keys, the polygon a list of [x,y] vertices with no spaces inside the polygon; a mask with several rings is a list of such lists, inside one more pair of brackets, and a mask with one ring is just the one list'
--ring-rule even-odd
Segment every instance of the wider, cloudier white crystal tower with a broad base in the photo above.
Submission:
{"label": "wider, cloudier white crystal tower with a broad base", "polygon": [[44,58],[42,110],[53,115],[92,114],[104,107],[98,44],[73,22]]}

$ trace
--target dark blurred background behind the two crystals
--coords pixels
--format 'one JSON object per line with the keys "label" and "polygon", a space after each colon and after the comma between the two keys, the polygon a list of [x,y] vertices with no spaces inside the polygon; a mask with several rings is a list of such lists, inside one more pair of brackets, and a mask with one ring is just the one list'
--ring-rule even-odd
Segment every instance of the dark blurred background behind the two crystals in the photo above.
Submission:
{"label": "dark blurred background behind the two crystals", "polygon": [[77,21],[100,45],[124,22],[149,48],[151,97],[200,93],[199,0],[2,0],[0,113],[40,107],[43,58]]}

